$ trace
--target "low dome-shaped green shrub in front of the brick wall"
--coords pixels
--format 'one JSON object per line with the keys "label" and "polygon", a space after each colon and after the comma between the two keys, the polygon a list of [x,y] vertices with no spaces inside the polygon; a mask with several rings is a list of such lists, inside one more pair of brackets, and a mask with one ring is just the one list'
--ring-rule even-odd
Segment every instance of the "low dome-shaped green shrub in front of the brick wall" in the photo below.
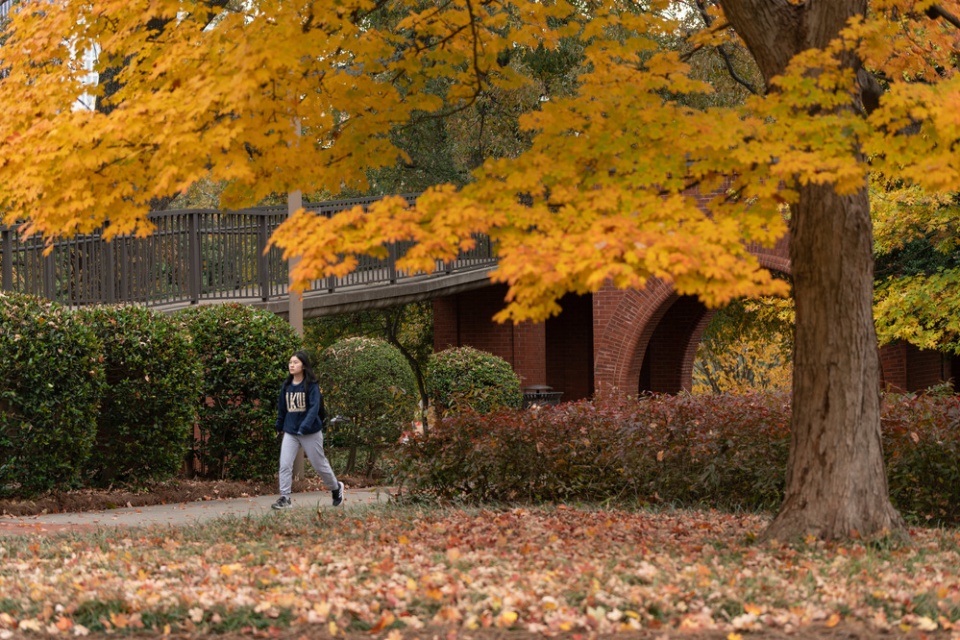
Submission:
{"label": "low dome-shaped green shrub in front of the brick wall", "polygon": [[465,410],[485,414],[523,405],[520,378],[510,364],[472,347],[433,354],[426,383],[430,404],[438,416]]}

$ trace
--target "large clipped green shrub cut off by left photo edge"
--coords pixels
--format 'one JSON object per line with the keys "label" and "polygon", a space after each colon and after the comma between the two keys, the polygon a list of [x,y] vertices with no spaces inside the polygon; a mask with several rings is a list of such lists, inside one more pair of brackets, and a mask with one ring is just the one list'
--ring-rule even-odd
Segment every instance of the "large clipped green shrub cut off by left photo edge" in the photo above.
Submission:
{"label": "large clipped green shrub cut off by left photo edge", "polygon": [[97,432],[101,347],[63,307],[0,293],[0,495],[79,484]]}

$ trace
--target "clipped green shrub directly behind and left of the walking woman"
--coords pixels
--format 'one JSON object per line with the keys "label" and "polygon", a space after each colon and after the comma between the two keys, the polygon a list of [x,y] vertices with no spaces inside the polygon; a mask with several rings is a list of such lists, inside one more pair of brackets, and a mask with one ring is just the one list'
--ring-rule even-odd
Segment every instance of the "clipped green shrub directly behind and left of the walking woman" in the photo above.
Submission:
{"label": "clipped green shrub directly behind and left of the walking woman", "polygon": [[300,348],[288,322],[239,304],[181,311],[203,368],[193,455],[207,477],[266,479],[277,471],[274,432],[287,362]]}

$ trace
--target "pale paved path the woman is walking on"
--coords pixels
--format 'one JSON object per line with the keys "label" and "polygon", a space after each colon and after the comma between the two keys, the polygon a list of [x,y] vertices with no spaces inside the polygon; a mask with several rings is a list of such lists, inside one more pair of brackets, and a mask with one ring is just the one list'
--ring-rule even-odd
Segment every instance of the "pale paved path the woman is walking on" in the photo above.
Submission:
{"label": "pale paved path the woman is walking on", "polygon": [[[346,489],[344,508],[375,502],[387,502],[389,489],[382,487],[370,489]],[[294,507],[317,506],[332,509],[329,491],[309,491],[294,493]],[[255,496],[251,498],[232,498],[228,500],[205,500],[201,502],[183,502],[160,504],[144,507],[126,507],[107,511],[84,511],[80,513],[50,513],[39,516],[0,517],[0,536],[24,535],[31,533],[57,533],[59,531],[92,531],[107,527],[149,527],[154,525],[182,526],[213,520],[222,516],[259,516],[271,511],[270,505],[276,495]]]}

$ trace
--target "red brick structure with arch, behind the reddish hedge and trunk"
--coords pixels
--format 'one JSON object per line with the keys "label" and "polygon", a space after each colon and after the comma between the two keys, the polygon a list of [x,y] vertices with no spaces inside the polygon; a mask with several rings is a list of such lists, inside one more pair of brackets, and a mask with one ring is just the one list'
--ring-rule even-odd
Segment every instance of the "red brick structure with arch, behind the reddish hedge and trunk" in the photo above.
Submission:
{"label": "red brick structure with arch, behind the reddish hedge and trunk", "polygon": [[[788,240],[751,247],[760,263],[790,273]],[[643,290],[568,294],[560,315],[542,323],[497,324],[506,285],[437,298],[434,348],[469,345],[500,356],[523,387],[548,385],[564,400],[603,388],[676,393],[692,386],[697,345],[713,311],[662,281]],[[960,358],[896,344],[880,350],[884,388],[915,391],[960,376]]]}

